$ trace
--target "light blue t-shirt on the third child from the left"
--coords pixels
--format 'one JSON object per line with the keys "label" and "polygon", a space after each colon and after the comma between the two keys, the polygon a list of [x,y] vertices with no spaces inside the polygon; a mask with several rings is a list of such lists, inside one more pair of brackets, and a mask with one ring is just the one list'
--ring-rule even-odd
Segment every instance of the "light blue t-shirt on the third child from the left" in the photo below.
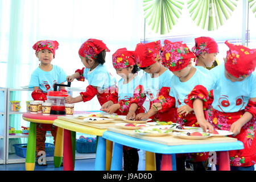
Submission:
{"label": "light blue t-shirt on the third child from the left", "polygon": [[134,90],[141,85],[141,75],[137,75],[128,84],[123,84],[123,78],[118,81],[118,101],[133,97]]}

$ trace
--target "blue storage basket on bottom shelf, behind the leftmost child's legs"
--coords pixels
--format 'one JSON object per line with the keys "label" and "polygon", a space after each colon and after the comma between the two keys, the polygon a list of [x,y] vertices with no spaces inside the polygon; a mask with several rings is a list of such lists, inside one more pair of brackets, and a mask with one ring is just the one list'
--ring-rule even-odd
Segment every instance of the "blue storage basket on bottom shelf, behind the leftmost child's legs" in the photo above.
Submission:
{"label": "blue storage basket on bottom shelf, behind the leftmost child's legs", "polygon": [[[27,152],[27,143],[22,143],[22,144],[13,144],[15,148],[15,154],[22,157],[26,158],[26,152]],[[50,157],[54,155],[54,144],[51,143],[46,143],[46,156]]]}

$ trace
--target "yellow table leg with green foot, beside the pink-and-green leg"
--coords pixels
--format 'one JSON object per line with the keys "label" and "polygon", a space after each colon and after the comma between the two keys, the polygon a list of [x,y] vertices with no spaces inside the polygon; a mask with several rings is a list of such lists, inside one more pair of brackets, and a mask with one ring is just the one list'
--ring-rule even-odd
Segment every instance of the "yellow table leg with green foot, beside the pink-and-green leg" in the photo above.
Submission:
{"label": "yellow table leg with green foot, beside the pink-and-green leg", "polygon": [[57,128],[55,150],[54,150],[54,167],[60,167],[63,159],[63,128]]}

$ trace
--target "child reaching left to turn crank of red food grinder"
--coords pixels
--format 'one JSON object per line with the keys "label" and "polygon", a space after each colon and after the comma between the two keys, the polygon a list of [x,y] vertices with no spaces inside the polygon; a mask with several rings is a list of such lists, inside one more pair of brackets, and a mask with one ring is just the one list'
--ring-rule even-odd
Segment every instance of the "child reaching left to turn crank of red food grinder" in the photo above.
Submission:
{"label": "child reaching left to turn crank of red food grinder", "polygon": [[67,76],[67,81],[72,82],[75,78],[79,81],[86,79],[89,85],[86,87],[86,92],[81,92],[80,96],[66,97],[66,103],[90,101],[97,95],[102,106],[108,101],[110,94],[115,93],[115,78],[104,66],[106,51],[109,52],[109,49],[102,40],[88,39],[82,44],[79,56],[85,68],[77,69],[73,75]]}

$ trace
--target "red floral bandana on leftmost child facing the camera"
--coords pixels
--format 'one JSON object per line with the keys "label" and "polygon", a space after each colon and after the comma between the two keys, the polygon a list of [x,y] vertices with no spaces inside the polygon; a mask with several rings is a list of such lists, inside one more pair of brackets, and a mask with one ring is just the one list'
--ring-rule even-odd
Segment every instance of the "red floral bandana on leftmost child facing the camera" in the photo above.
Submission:
{"label": "red floral bandana on leftmost child facing the camera", "polygon": [[40,40],[32,46],[32,48],[36,51],[42,51],[43,49],[48,49],[53,53],[53,57],[55,57],[55,50],[58,49],[59,43],[56,40]]}

